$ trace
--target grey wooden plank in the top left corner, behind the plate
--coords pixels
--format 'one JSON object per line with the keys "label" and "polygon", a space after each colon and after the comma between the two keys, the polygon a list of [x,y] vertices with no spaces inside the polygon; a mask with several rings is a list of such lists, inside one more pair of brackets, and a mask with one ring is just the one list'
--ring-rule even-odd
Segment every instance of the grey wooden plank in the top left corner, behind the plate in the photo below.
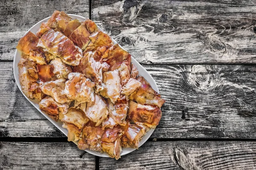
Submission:
{"label": "grey wooden plank in the top left corner, behind the plate", "polygon": [[89,17],[89,0],[1,0],[0,60],[13,59],[19,39],[54,10]]}

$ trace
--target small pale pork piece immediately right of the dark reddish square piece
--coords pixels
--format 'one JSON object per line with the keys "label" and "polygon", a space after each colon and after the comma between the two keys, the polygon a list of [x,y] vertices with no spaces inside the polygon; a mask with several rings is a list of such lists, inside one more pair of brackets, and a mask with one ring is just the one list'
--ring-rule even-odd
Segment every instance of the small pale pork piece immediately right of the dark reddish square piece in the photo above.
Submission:
{"label": "small pale pork piece immediately right of the dark reddish square piece", "polygon": [[52,59],[50,64],[54,66],[53,74],[57,79],[67,79],[67,75],[72,72],[72,68],[66,65],[60,58]]}

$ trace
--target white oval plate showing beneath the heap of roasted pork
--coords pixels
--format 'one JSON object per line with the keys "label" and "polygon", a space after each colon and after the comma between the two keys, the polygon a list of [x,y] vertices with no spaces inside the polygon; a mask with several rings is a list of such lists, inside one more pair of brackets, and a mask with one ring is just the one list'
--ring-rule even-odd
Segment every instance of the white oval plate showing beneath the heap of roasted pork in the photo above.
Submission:
{"label": "white oval plate showing beneath the heap of roasted pork", "polygon": [[[81,17],[79,15],[74,15],[74,14],[68,14],[72,19],[77,19],[79,21],[84,21],[86,18],[85,17]],[[45,18],[44,20],[39,21],[38,23],[36,23],[34,26],[32,26],[28,31],[31,31],[32,33],[36,33],[36,31],[38,31],[39,27],[41,26],[41,23],[43,22],[47,22],[47,20],[49,19],[49,17]],[[101,28],[99,28],[100,30],[102,30]],[[27,32],[28,32],[27,31]],[[117,42],[115,40],[112,41],[114,42],[114,44],[117,44]],[[121,47],[122,48],[122,47]],[[18,62],[20,61],[20,56],[21,56],[21,52],[20,51],[15,51],[14,54],[14,61],[13,61],[13,73],[14,73],[14,77],[15,77],[15,82],[17,83],[21,93],[23,94],[22,90],[21,90],[21,86],[20,86],[20,81],[19,81],[19,76],[18,76]],[[139,62],[137,62],[133,57],[131,57],[131,62],[133,62],[135,65],[137,65],[138,71],[140,76],[143,76],[151,85],[151,87],[157,91],[159,93],[159,90],[157,88],[157,84],[154,81],[154,79],[151,77],[151,75],[145,70],[145,68],[143,68],[142,65],[140,65]],[[37,108],[37,110],[39,112],[41,112],[50,122],[52,122],[53,125],[55,125],[56,127],[58,127],[59,130],[61,130],[62,133],[64,133],[67,136],[67,129],[62,127],[62,122],[59,120],[58,122],[55,122],[54,120],[52,120],[46,113],[44,113],[44,111],[41,111],[41,109],[39,108],[38,105],[38,101],[36,99],[30,99],[29,97],[27,97],[25,94],[23,94],[26,99],[35,107]],[[36,122],[35,122],[36,123]],[[139,147],[141,145],[143,145],[148,138],[151,136],[151,134],[154,132],[154,129],[151,129],[148,131],[148,133],[143,137],[143,139],[141,139]],[[76,142],[75,142],[76,143]],[[76,143],[77,144],[77,143]],[[121,156],[126,155],[128,153],[131,153],[132,151],[134,151],[135,149],[132,148],[123,148],[122,149],[122,153]],[[99,153],[99,152],[95,152],[92,150],[85,150],[86,152],[93,154],[95,156],[101,156],[101,157],[109,157],[107,153]]]}

